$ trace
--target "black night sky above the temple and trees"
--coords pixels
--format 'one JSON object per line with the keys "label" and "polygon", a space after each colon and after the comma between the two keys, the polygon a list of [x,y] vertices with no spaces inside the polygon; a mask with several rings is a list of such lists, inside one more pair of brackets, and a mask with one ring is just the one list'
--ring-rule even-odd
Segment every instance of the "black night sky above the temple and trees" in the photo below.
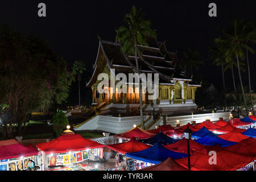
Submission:
{"label": "black night sky above the temple and trees", "polygon": [[[46,3],[47,17],[39,18],[38,4]],[[208,5],[217,4],[217,17],[208,16]],[[158,33],[160,42],[166,41],[168,51],[178,56],[188,48],[196,49],[205,65],[198,71],[203,80],[222,86],[221,68],[213,66],[208,58],[208,48],[219,35],[220,28],[227,28],[235,18],[249,19],[256,24],[256,1],[0,1],[0,24],[6,24],[24,35],[33,33],[48,40],[52,49],[67,60],[81,60],[86,65],[81,89],[81,104],[90,104],[91,90],[85,82],[92,73],[96,60],[98,38],[114,41],[115,30],[123,25],[125,14],[131,6],[142,8],[146,19]],[[255,46],[254,46],[255,49]],[[256,56],[250,55],[251,84],[256,89]],[[236,72],[237,75],[237,72]],[[232,88],[232,75],[225,73],[226,84]],[[243,83],[247,85],[247,75]],[[239,82],[236,76],[237,83]],[[77,101],[76,101],[77,98]],[[72,85],[69,104],[77,104],[77,84]]]}

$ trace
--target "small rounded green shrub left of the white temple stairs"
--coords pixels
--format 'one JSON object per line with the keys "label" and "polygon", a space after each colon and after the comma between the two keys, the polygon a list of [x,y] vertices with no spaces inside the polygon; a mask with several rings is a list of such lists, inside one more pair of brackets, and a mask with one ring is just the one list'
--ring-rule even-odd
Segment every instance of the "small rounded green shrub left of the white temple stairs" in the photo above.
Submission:
{"label": "small rounded green shrub left of the white temple stairs", "polygon": [[59,137],[63,132],[65,126],[68,125],[68,118],[65,116],[62,110],[57,109],[55,115],[52,118],[53,130],[56,133],[56,137]]}

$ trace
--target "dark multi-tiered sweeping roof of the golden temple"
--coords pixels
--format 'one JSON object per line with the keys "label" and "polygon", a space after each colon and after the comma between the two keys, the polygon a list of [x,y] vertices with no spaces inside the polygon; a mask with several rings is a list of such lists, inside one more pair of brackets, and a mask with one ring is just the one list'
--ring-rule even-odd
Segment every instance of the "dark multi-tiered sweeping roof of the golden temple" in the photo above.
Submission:
{"label": "dark multi-tiered sweeping roof of the golden temple", "polygon": [[[200,86],[192,82],[191,78],[184,75],[176,52],[168,52],[165,43],[158,42],[155,38],[147,38],[149,46],[140,46],[142,59],[138,57],[141,73],[159,73],[160,84],[175,84],[173,81],[188,82],[188,86]],[[137,73],[135,56],[126,55],[122,51],[122,44],[100,40],[96,63],[93,65],[93,75],[86,86],[90,87],[97,81],[98,74],[108,69],[115,69],[118,73]]]}

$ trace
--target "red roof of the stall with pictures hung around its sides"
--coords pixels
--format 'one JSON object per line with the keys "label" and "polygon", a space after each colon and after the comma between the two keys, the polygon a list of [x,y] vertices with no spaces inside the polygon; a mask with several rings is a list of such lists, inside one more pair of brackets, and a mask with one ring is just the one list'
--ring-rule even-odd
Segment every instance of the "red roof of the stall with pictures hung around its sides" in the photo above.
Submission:
{"label": "red roof of the stall with pictures hung around its sides", "polygon": [[60,137],[46,143],[38,143],[36,147],[46,154],[64,153],[69,151],[79,151],[91,148],[102,148],[103,144],[83,138],[80,134],[61,135]]}

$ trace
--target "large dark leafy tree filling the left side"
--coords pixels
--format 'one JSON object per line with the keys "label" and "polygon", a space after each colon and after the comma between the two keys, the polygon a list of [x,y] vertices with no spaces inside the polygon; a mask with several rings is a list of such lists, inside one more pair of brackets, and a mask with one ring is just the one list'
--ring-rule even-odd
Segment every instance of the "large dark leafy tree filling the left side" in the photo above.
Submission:
{"label": "large dark leafy tree filling the left side", "polygon": [[47,42],[0,28],[0,104],[9,106],[10,119],[4,124],[7,137],[24,133],[28,113],[67,100],[72,80],[67,63]]}

